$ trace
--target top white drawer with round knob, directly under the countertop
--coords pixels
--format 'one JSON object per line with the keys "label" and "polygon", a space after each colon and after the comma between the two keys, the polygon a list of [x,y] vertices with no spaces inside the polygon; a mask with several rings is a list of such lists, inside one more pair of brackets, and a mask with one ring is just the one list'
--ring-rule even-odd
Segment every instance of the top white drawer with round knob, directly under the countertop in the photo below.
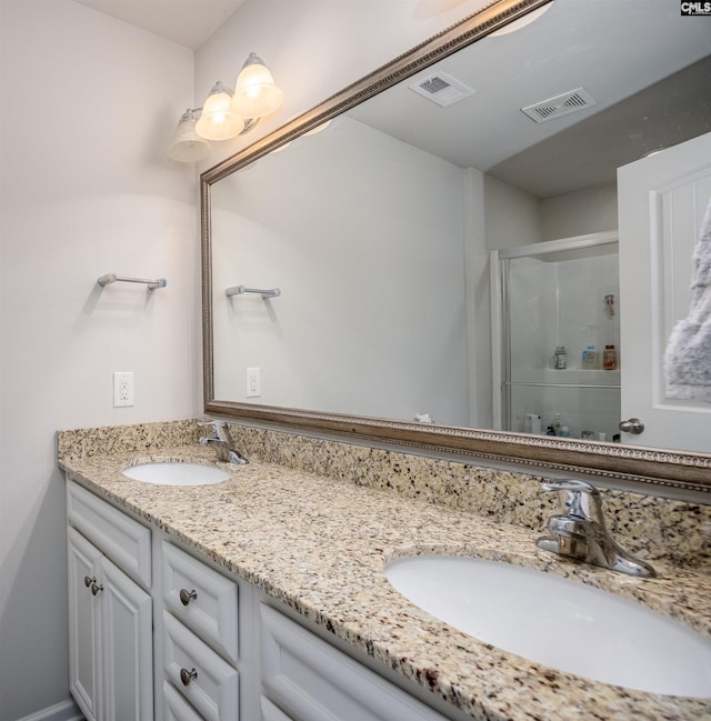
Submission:
{"label": "top white drawer with round knob, directly under the countertop", "polygon": [[237,583],[164,541],[162,555],[167,608],[237,663]]}

